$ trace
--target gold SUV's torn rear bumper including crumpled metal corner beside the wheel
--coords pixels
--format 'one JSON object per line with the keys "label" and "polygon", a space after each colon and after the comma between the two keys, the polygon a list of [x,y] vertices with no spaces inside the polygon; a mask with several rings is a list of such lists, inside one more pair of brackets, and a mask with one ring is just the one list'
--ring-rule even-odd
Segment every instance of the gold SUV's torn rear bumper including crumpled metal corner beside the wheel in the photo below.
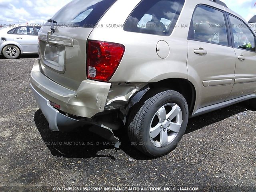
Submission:
{"label": "gold SUV's torn rear bumper including crumpled metal corner beside the wheel", "polygon": [[[74,91],[46,77],[40,71],[39,60],[36,60],[30,74],[30,83],[34,97],[48,120],[51,130],[72,130],[85,124],[94,124],[98,127],[89,130],[106,140],[115,142],[116,146],[119,145],[119,140],[114,136],[113,129],[107,127],[104,122],[94,122],[94,117],[104,110],[115,109],[126,115],[125,106],[128,106],[132,96],[146,85],[146,83],[112,82],[110,84],[84,80]],[[132,104],[134,104],[134,98]],[[136,102],[137,100],[139,99],[136,99]],[[61,112],[52,107],[50,102],[60,106]]]}

